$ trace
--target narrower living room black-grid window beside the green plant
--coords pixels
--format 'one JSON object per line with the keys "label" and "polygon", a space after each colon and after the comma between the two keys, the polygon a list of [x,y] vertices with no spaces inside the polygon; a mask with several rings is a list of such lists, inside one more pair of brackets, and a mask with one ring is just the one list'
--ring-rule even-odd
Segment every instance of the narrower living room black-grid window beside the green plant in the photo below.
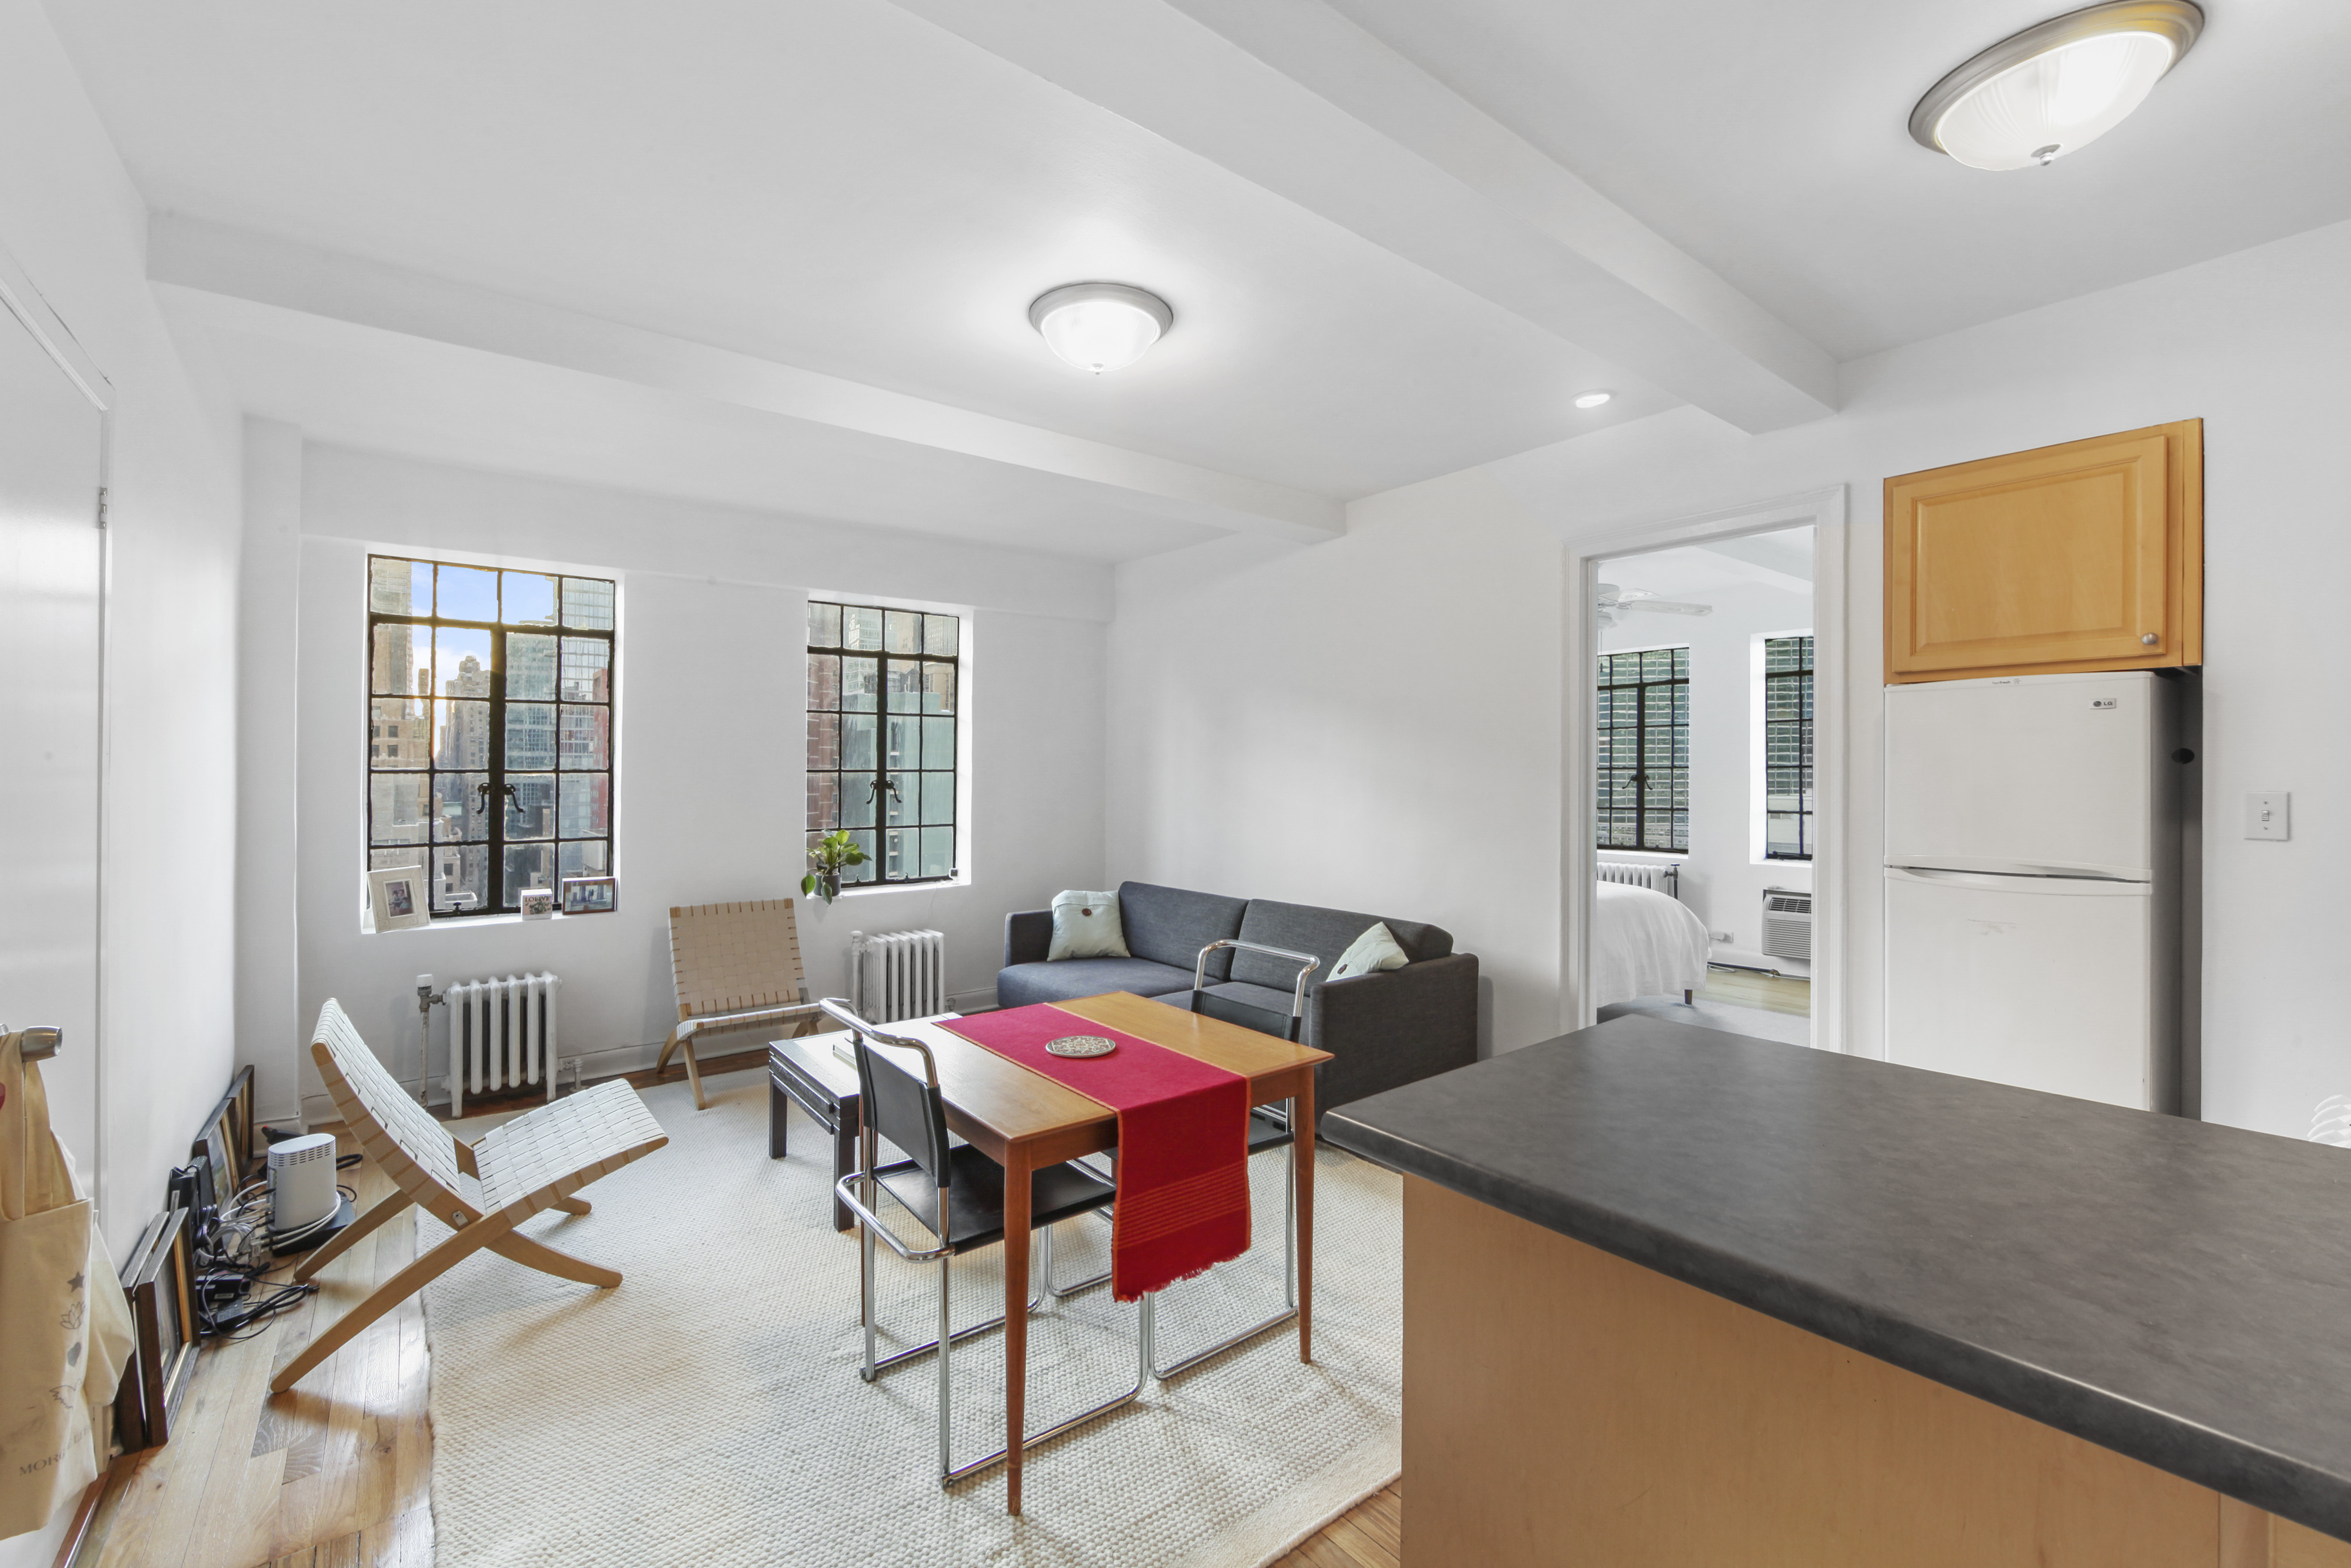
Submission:
{"label": "narrower living room black-grid window beside the green plant", "polygon": [[809,844],[865,851],[842,882],[955,877],[962,621],[809,599]]}

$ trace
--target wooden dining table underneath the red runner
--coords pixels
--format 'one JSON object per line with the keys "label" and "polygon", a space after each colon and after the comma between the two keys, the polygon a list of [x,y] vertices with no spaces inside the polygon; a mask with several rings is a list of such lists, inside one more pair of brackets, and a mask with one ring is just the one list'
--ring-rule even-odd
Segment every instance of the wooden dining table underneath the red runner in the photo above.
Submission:
{"label": "wooden dining table underneath the red runner", "polygon": [[[1131,992],[1053,1006],[1248,1079],[1248,1103],[1293,1100],[1298,1135],[1298,1359],[1314,1359],[1314,1065],[1328,1051],[1260,1034]],[[1119,1114],[1100,1100],[978,1046],[950,1025],[919,1034],[938,1063],[947,1128],[1004,1166],[1004,1509],[1020,1512],[1027,1406],[1030,1173],[1117,1147]]]}

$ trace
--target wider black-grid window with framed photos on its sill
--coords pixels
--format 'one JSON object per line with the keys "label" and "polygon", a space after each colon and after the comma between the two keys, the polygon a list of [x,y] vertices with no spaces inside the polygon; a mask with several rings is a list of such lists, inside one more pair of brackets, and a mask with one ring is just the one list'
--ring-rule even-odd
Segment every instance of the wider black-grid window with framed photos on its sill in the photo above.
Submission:
{"label": "wider black-grid window with framed photos on its sill", "polygon": [[607,578],[367,559],[367,863],[428,865],[435,919],[611,875],[616,604]]}

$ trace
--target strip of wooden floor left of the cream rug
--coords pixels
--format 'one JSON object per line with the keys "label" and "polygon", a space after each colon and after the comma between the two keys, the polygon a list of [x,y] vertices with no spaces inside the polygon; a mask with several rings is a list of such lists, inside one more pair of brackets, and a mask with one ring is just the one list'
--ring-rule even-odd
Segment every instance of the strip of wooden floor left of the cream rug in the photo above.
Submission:
{"label": "strip of wooden floor left of the cream rug", "polygon": [[[371,1164],[343,1171],[343,1182],[360,1208],[390,1192]],[[430,1568],[418,1302],[371,1324],[289,1394],[268,1392],[320,1324],[414,1255],[409,1211],[320,1269],[320,1293],[254,1338],[205,1345],[172,1441],[108,1476],[82,1568]]]}

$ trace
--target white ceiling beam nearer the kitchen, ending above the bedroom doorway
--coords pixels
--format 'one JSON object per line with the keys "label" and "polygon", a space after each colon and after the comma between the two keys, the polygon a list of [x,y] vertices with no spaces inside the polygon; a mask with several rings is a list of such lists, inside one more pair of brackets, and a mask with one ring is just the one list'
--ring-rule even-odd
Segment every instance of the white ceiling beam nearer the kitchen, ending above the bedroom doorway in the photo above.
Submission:
{"label": "white ceiling beam nearer the kitchen, ending above the bedroom doorway", "polygon": [[1321,0],[893,0],[1742,430],[1836,362]]}

